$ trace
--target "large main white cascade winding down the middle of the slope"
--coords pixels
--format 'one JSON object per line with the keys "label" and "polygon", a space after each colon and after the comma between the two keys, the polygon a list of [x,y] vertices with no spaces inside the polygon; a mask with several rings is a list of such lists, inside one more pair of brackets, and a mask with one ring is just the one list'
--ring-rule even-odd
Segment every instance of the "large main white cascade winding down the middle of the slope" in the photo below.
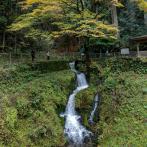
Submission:
{"label": "large main white cascade winding down the middle of the slope", "polygon": [[[69,96],[69,100],[66,106],[65,117],[65,129],[64,134],[75,146],[84,143],[85,139],[91,136],[91,132],[88,131],[80,122],[81,116],[77,115],[75,111],[75,96],[81,90],[88,88],[86,77],[83,73],[78,73],[75,69],[75,63],[70,63],[71,70],[76,73],[77,76],[77,88]],[[63,116],[63,115],[62,115]]]}

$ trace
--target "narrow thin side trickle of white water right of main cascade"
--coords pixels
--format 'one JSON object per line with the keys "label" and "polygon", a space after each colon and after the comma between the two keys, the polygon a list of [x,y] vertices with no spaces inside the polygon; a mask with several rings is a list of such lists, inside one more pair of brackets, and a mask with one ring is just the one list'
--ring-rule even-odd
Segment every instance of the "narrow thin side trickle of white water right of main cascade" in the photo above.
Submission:
{"label": "narrow thin side trickle of white water right of main cascade", "polygon": [[99,103],[99,95],[96,94],[96,95],[95,95],[95,99],[94,99],[94,108],[93,108],[93,110],[91,111],[91,114],[90,114],[90,117],[89,117],[89,123],[93,123],[94,114],[95,114],[95,112],[96,112],[96,110],[97,110],[98,103]]}

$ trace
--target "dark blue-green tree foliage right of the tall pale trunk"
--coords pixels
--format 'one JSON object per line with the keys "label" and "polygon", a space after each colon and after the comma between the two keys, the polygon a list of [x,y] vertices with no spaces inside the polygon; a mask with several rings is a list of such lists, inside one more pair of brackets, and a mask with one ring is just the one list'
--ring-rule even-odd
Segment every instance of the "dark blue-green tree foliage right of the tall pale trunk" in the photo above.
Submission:
{"label": "dark blue-green tree foliage right of the tall pale trunk", "polygon": [[123,8],[119,10],[120,43],[122,46],[128,46],[128,40],[131,37],[147,34],[147,28],[144,25],[144,12],[138,1],[122,1]]}

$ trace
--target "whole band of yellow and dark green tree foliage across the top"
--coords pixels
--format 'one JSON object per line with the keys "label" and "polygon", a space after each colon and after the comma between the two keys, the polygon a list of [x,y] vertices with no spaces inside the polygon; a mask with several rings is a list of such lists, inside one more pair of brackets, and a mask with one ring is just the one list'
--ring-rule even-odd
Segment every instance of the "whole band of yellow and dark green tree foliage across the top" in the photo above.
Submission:
{"label": "whole band of yellow and dark green tree foliage across the top", "polygon": [[147,32],[146,6],[145,0],[2,0],[0,49],[75,51],[87,39],[90,46],[128,46],[130,37]]}

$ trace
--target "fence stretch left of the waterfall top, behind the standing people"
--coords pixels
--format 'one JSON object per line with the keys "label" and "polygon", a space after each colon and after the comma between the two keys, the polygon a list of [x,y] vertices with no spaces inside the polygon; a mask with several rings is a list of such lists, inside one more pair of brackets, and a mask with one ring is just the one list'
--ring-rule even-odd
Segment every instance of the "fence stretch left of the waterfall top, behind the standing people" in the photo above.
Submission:
{"label": "fence stretch left of the waterfall top, behind the standing people", "polygon": [[[58,60],[75,60],[80,59],[81,55],[78,52],[75,53],[52,53],[50,55],[51,61]],[[35,54],[35,62],[47,61],[45,52],[37,52]],[[31,63],[32,57],[30,53],[0,53],[0,67],[12,64]]]}

